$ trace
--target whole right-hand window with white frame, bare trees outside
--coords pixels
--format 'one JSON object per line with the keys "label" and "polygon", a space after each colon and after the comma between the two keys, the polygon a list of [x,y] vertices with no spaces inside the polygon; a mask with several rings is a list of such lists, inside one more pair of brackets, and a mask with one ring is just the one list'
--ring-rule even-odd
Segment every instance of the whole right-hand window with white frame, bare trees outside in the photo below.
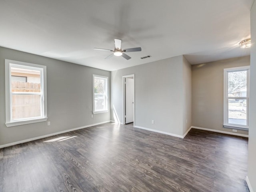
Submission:
{"label": "whole right-hand window with white frame, bare trees outside", "polygon": [[224,69],[224,127],[248,130],[250,66]]}

